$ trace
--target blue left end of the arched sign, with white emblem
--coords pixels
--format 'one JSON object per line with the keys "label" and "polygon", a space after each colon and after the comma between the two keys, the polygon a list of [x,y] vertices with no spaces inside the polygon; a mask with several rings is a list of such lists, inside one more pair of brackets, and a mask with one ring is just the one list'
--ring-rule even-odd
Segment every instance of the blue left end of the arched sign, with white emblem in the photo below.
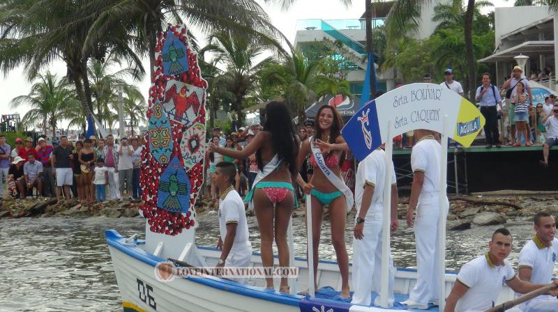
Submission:
{"label": "blue left end of the arched sign, with white emblem", "polygon": [[382,137],[379,132],[376,102],[372,100],[357,111],[343,127],[341,134],[354,157],[359,161],[381,146]]}

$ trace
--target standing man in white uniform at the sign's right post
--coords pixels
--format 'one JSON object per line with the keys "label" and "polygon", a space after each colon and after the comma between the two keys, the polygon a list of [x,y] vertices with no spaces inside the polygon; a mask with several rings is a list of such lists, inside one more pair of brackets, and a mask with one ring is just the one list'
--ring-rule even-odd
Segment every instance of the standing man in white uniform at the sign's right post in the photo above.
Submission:
{"label": "standing man in white uniform at the sign's right post", "polygon": [[[439,159],[440,144],[434,139],[430,130],[414,130],[418,142],[411,153],[413,184],[407,225],[414,226],[416,239],[416,267],[418,280],[409,295],[407,304],[412,309],[428,309],[428,303],[438,303],[440,251],[438,248],[438,219],[447,216],[449,202],[439,202]],[[444,214],[440,215],[440,205],[444,205]],[[416,209],[416,221],[413,221]]]}

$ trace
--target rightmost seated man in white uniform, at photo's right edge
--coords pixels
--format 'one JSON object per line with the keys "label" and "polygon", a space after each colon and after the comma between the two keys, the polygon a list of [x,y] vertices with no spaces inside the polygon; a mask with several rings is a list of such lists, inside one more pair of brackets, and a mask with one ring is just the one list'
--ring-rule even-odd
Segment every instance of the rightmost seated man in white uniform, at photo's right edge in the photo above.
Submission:
{"label": "rightmost seated man in white uniform, at photo's right edge", "polygon": [[[547,212],[538,212],[534,217],[535,237],[529,240],[519,254],[518,276],[522,281],[531,283],[549,283],[552,280],[558,240],[554,237],[556,222]],[[539,296],[522,304],[523,312],[558,311],[558,299]]]}

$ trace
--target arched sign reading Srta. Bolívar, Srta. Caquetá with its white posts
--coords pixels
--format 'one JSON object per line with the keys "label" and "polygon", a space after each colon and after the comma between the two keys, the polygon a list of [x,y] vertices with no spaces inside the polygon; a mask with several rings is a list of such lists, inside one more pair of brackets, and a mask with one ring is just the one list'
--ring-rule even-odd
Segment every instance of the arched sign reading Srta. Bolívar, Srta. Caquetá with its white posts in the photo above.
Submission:
{"label": "arched sign reading Srta. Bol\u00edvar, Srta. Caquet\u00e1 with its white posts", "polygon": [[[440,311],[445,302],[446,178],[448,138],[470,146],[485,123],[481,112],[457,93],[437,84],[408,84],[366,103],[343,127],[341,133],[352,153],[362,161],[382,143],[386,143],[384,177],[384,224],[382,233],[382,289],[380,303],[388,307],[389,298],[389,224],[391,211],[391,166],[393,137],[407,131],[425,129],[442,134],[439,190],[439,241],[442,279],[439,292]],[[308,204],[307,204],[308,206]],[[310,244],[309,244],[310,248]],[[309,253],[310,255],[310,253]],[[313,281],[313,278],[312,278]],[[313,286],[313,285],[312,285]]]}

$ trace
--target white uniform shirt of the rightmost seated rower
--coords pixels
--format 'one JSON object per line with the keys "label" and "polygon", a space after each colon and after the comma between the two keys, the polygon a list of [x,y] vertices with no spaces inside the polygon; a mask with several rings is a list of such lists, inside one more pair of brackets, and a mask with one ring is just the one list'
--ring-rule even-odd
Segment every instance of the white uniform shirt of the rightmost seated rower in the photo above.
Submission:
{"label": "white uniform shirt of the rightmost seated rower", "polygon": [[[535,241],[536,240],[536,241]],[[548,284],[552,282],[552,272],[558,258],[558,239],[552,240],[550,247],[534,237],[529,240],[519,253],[518,268],[530,267],[531,283]],[[549,297],[549,296],[541,296]]]}

